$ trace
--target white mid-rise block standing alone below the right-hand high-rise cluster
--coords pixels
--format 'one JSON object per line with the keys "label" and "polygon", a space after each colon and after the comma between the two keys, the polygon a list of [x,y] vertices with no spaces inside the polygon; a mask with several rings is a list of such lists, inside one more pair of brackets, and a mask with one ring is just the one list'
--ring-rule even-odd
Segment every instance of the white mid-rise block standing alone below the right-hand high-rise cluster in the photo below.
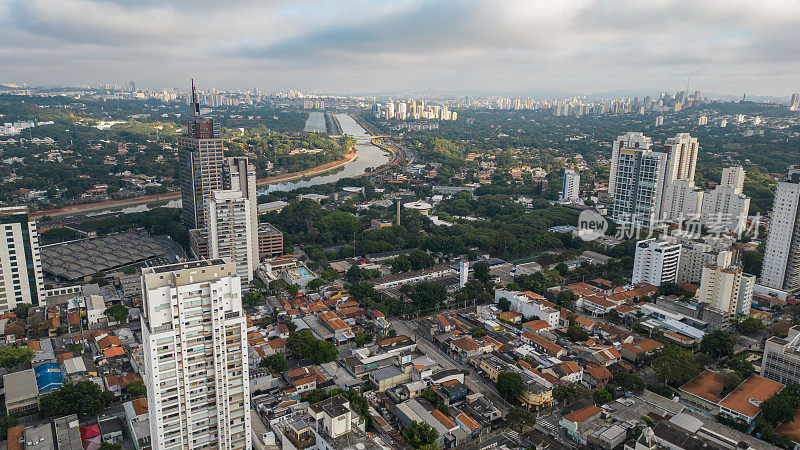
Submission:
{"label": "white mid-rise block standing alone below the right-hand high-rise cluster", "polygon": [[648,283],[653,286],[674,283],[678,277],[680,259],[680,244],[658,241],[655,238],[641,240],[636,243],[631,281],[633,284]]}

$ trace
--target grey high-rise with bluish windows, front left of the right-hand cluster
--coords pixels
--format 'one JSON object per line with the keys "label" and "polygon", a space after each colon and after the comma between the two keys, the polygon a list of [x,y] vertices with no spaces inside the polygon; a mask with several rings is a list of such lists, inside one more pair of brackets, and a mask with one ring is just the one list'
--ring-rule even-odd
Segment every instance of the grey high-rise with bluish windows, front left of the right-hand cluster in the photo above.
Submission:
{"label": "grey high-rise with bluish windows, front left of the right-hand cluster", "polygon": [[649,149],[622,149],[612,172],[609,190],[611,217],[617,222],[651,226],[661,217],[667,154]]}

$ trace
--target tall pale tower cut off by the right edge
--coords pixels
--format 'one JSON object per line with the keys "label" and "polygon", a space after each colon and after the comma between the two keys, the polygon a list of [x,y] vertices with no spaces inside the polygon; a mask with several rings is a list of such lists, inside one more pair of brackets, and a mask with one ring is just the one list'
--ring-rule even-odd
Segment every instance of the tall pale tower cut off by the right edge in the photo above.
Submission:
{"label": "tall pale tower cut off by the right edge", "polygon": [[800,287],[800,166],[789,167],[775,189],[764,250],[761,284],[791,291]]}

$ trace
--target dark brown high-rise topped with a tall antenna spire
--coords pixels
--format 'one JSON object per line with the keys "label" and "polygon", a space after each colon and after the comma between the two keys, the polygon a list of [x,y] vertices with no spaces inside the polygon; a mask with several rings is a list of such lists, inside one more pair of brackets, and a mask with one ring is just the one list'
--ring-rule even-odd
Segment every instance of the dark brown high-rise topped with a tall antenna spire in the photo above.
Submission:
{"label": "dark brown high-rise topped with a tall antenna spire", "polygon": [[222,166],[225,162],[219,122],[200,114],[194,82],[191,110],[191,119],[182,123],[183,136],[178,137],[183,224],[190,230],[204,228],[205,204],[211,198],[211,192],[222,189]]}

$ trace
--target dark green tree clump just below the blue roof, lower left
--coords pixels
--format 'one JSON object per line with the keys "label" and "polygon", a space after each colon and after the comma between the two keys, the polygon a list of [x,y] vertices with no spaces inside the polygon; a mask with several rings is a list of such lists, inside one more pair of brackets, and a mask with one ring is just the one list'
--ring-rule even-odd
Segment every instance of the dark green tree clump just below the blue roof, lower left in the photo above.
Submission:
{"label": "dark green tree clump just below the blue roof, lower left", "polygon": [[51,417],[69,414],[95,416],[106,406],[103,392],[97,384],[89,380],[65,384],[43,397],[40,408]]}

